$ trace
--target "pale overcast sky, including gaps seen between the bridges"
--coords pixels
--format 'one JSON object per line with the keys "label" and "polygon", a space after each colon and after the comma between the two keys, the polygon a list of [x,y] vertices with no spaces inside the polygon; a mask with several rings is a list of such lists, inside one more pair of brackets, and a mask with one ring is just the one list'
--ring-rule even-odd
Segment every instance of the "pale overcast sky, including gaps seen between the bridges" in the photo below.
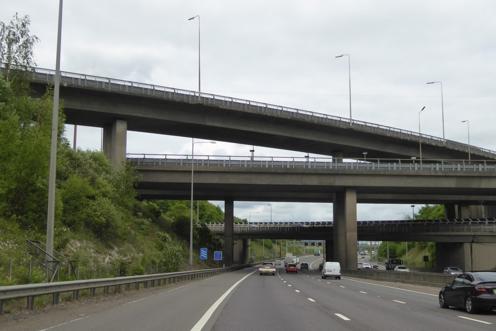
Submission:
{"label": "pale overcast sky, including gaps seen between the bridges", "polygon": [[[38,67],[55,69],[58,0],[0,0],[0,21],[31,18]],[[494,0],[66,0],[61,70],[349,117],[496,150]],[[67,126],[72,143],[73,127]],[[100,149],[101,130],[78,127]],[[197,144],[195,155],[251,146]],[[191,153],[191,139],[128,132],[128,153]],[[255,146],[255,156],[303,156]],[[312,156],[312,155],[310,155]],[[223,201],[212,201],[224,207]],[[332,220],[332,204],[235,202],[252,221]],[[418,207],[415,207],[417,212]],[[358,206],[359,220],[402,219],[408,205]]]}

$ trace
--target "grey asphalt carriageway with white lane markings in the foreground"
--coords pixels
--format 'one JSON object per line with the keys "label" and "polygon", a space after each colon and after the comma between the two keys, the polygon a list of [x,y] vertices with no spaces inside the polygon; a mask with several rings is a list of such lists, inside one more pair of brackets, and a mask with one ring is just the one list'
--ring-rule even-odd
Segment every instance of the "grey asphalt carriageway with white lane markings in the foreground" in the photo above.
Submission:
{"label": "grey asphalt carriageway with white lane markings in the foreground", "polygon": [[[317,260],[318,259],[318,260]],[[310,270],[275,276],[251,267],[161,287],[138,299],[74,317],[50,315],[8,330],[402,330],[480,331],[496,328],[496,312],[470,315],[439,308],[438,289],[356,278],[321,279],[320,257],[300,258]],[[388,284],[386,286],[384,284]],[[398,284],[399,285],[399,284]],[[416,290],[417,289],[417,290]],[[138,291],[136,291],[138,292]],[[48,317],[48,319],[47,319]],[[39,322],[39,323],[38,323]],[[0,320],[0,330],[2,320]]]}

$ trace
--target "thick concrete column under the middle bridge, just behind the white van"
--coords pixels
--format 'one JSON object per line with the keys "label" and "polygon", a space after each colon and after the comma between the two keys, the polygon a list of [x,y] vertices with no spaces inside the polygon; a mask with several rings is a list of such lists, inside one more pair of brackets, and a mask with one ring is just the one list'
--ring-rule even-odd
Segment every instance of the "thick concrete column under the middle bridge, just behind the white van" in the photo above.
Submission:
{"label": "thick concrete column under the middle bridge, just behind the white van", "polygon": [[336,193],[333,204],[334,260],[342,269],[357,268],[357,190]]}

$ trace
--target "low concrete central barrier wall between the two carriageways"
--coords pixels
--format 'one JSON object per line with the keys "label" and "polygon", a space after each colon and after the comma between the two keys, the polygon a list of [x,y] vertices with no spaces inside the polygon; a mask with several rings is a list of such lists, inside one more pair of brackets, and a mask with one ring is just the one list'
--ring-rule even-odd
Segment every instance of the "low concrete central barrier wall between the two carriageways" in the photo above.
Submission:
{"label": "low concrete central barrier wall between the two carriageways", "polygon": [[341,270],[341,275],[439,288],[455,279],[455,276],[444,273],[400,272],[391,270]]}

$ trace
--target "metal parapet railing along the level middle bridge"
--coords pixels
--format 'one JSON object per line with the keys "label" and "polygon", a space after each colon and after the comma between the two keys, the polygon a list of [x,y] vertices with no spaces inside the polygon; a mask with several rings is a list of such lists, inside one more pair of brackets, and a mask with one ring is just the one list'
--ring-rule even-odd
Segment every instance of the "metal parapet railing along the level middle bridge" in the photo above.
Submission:
{"label": "metal parapet railing along the level middle bridge", "polygon": [[357,159],[338,162],[325,157],[250,157],[229,155],[185,154],[127,154],[131,165],[287,168],[287,169],[346,169],[346,170],[417,170],[417,171],[496,171],[496,160],[443,159]]}

